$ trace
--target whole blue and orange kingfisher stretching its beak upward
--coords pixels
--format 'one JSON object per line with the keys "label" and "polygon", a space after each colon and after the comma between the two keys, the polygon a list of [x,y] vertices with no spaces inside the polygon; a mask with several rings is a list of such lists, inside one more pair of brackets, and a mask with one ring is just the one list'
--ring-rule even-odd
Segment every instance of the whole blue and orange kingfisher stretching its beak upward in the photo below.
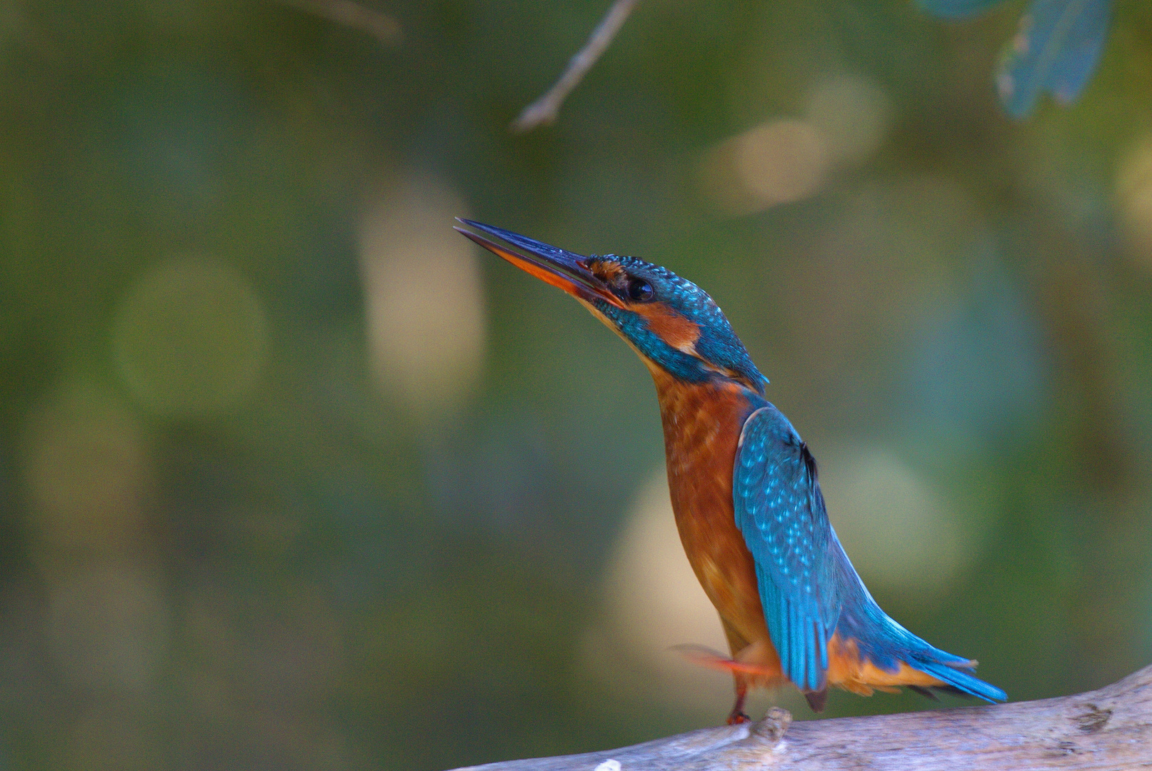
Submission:
{"label": "whole blue and orange kingfisher stretching its beak upward", "polygon": [[729,724],[748,720],[749,688],[786,682],[817,712],[829,686],[1007,699],[972,674],[975,661],[933,648],[880,610],[828,520],[816,459],[765,398],[768,380],[704,290],[635,257],[583,255],[458,222],[484,249],[575,297],[652,374],[676,527],[732,655],[691,652],[733,674]]}

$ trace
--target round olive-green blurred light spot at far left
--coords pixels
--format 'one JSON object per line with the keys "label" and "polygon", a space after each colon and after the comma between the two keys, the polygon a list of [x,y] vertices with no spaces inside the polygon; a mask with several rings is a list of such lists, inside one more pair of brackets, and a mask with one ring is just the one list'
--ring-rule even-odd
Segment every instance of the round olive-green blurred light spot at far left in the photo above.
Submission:
{"label": "round olive-green blurred light spot at far left", "polygon": [[145,273],[123,298],[113,333],[126,386],[161,415],[213,414],[249,395],[267,343],[264,308],[248,281],[200,257]]}

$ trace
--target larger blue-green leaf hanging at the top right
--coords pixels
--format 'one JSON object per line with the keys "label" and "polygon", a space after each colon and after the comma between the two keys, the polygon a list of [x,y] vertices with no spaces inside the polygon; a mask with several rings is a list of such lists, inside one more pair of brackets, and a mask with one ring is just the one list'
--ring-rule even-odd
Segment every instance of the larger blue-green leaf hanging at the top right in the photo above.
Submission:
{"label": "larger blue-green leaf hanging at the top right", "polygon": [[1033,0],[996,74],[1005,110],[1026,117],[1045,91],[1074,101],[1100,61],[1112,0]]}

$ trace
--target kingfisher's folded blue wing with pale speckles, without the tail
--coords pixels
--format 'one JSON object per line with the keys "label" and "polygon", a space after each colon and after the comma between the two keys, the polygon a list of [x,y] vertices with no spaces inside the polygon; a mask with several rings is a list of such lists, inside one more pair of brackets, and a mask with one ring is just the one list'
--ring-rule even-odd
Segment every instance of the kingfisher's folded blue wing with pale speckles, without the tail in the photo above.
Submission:
{"label": "kingfisher's folded blue wing with pale speckles, without the tail", "polygon": [[783,672],[801,690],[821,690],[828,639],[840,617],[839,549],[832,547],[816,461],[771,404],[744,422],[733,501]]}

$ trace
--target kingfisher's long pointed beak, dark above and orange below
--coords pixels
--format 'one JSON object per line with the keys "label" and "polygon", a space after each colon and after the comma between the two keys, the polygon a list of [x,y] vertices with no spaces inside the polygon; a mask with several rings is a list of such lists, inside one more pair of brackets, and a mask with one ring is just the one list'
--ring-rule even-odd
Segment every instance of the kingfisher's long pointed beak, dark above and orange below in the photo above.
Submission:
{"label": "kingfisher's long pointed beak, dark above and orange below", "polygon": [[460,217],[456,217],[456,221],[467,224],[470,228],[495,236],[500,241],[505,241],[515,246],[517,251],[511,251],[507,246],[501,246],[493,241],[488,241],[484,236],[464,230],[463,228],[456,228],[456,230],[458,230],[462,235],[468,236],[497,257],[503,258],[521,270],[532,274],[540,281],[552,284],[553,287],[559,287],[569,295],[582,300],[592,301],[600,299],[611,305],[615,305],[616,307],[623,307],[620,298],[612,293],[608,285],[597,278],[592,272],[588,269],[588,258],[583,254],[567,252],[562,249],[556,249],[555,246],[550,246],[541,242],[533,241],[532,238],[525,238],[524,236],[515,234],[510,230],[493,228],[491,224],[483,224],[480,222],[462,220]]}

